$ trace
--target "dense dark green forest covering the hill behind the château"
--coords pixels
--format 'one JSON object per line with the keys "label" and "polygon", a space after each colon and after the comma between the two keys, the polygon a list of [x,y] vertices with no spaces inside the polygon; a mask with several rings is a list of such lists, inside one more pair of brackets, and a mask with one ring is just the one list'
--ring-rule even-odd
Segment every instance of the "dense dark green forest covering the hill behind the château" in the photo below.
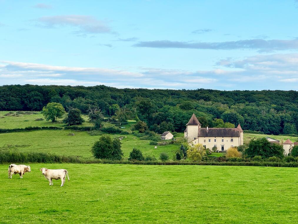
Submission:
{"label": "dense dark green forest covering the hill behind the ch\u00e2teau", "polygon": [[[202,126],[230,127],[266,134],[297,134],[297,91],[220,91],[117,89],[107,86],[0,86],[1,111],[40,111],[48,102],[86,113],[99,107],[107,116],[126,107],[130,116],[148,123],[151,130],[184,131],[195,113]],[[220,120],[222,119],[222,120]],[[225,122],[225,123],[224,123]],[[229,123],[228,123],[229,122]],[[173,126],[172,126],[173,125]]]}

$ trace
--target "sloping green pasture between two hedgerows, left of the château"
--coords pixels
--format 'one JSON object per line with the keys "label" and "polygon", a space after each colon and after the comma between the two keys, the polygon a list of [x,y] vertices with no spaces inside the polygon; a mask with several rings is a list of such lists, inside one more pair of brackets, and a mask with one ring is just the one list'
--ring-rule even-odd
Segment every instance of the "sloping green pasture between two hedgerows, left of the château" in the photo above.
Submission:
{"label": "sloping green pasture between two hedgerows, left of the ch\u00e2teau", "polygon": [[[75,136],[69,136],[70,133]],[[119,137],[121,135],[110,134],[111,137]],[[121,140],[121,149],[124,157],[129,156],[129,152],[133,148],[140,149],[144,156],[150,155],[159,157],[161,152],[167,152],[169,156],[173,156],[178,145],[157,146],[149,145],[150,140],[139,140],[138,137],[130,134],[123,135]],[[61,155],[80,156],[82,158],[92,158],[91,147],[94,142],[98,141],[99,136],[90,136],[86,131],[72,130],[41,130],[29,132],[14,132],[0,134],[0,149],[11,149],[19,151],[38,151],[51,152]]]}

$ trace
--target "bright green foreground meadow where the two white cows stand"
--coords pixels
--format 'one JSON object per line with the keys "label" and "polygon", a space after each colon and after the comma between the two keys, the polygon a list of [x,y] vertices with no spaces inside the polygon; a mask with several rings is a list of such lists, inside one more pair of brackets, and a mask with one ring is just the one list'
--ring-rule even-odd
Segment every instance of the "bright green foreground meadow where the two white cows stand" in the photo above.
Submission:
{"label": "bright green foreground meadow where the two white cows stand", "polygon": [[[0,223],[297,223],[297,168],[0,165]],[[60,187],[39,168],[66,168]]]}

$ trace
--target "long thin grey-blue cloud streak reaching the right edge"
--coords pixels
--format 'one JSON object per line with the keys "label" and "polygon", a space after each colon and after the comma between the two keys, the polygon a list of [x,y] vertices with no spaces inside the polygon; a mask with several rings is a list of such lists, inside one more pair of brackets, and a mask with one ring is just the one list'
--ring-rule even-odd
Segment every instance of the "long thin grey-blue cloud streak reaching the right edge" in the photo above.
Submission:
{"label": "long thin grey-blue cloud streak reaching the right edge", "polygon": [[153,48],[187,48],[187,49],[212,49],[212,50],[234,50],[254,49],[259,52],[270,52],[274,50],[298,49],[298,39],[293,40],[264,40],[250,39],[226,42],[179,42],[179,41],[147,41],[138,42],[133,47]]}

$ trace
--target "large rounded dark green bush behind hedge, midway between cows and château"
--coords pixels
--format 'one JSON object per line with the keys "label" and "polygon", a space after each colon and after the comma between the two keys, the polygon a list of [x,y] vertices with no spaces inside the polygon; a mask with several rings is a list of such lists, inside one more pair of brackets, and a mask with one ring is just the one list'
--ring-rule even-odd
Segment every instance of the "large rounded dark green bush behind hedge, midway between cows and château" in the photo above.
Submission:
{"label": "large rounded dark green bush behind hedge, midway between cows and ch\u00e2teau", "polygon": [[119,138],[112,140],[108,135],[100,136],[99,141],[94,143],[91,151],[97,159],[119,160],[123,156]]}

